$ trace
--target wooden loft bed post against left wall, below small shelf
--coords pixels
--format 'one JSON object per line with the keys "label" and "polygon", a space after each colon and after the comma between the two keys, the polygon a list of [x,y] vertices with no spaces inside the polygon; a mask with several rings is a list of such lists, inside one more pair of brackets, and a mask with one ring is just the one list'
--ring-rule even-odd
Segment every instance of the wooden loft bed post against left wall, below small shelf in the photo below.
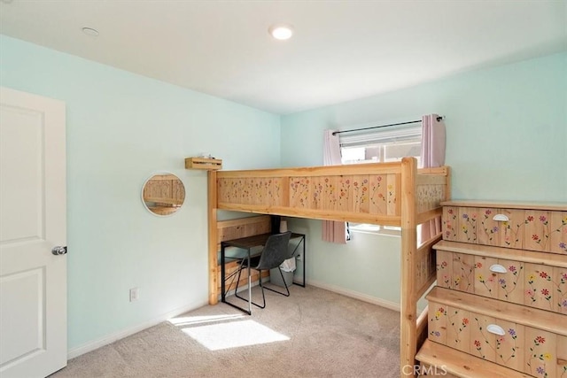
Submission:
{"label": "wooden loft bed post against left wall, below small shelf", "polygon": [[209,234],[209,305],[216,305],[219,302],[218,282],[219,261],[218,261],[218,235],[216,227],[217,209],[217,188],[216,171],[207,172],[207,220]]}

